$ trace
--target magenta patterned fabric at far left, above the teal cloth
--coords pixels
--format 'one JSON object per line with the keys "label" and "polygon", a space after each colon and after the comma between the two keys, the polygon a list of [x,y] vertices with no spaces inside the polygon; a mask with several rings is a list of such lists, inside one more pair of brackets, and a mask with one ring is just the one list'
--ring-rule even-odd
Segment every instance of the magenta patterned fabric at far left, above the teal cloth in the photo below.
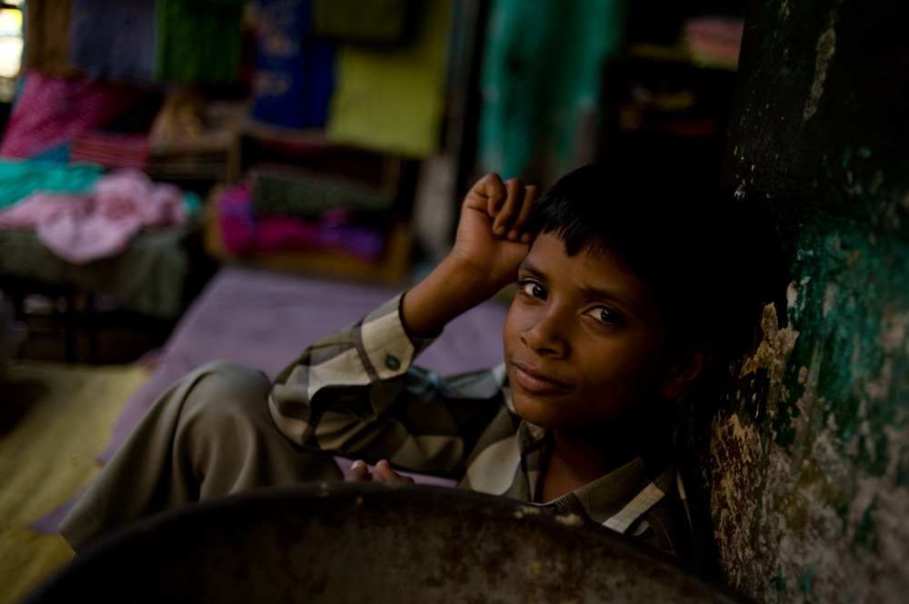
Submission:
{"label": "magenta patterned fabric at far left, above the teal cloth", "polygon": [[37,157],[110,124],[146,94],[132,86],[29,72],[6,124],[0,155]]}

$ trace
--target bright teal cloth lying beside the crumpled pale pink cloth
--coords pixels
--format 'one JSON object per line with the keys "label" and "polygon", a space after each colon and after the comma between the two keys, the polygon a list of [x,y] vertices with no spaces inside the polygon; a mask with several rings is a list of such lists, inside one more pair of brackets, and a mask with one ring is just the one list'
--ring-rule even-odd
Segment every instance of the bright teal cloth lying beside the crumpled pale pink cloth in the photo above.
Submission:
{"label": "bright teal cloth lying beside the crumpled pale pink cloth", "polygon": [[89,191],[102,173],[104,168],[93,163],[0,161],[0,208],[35,191]]}

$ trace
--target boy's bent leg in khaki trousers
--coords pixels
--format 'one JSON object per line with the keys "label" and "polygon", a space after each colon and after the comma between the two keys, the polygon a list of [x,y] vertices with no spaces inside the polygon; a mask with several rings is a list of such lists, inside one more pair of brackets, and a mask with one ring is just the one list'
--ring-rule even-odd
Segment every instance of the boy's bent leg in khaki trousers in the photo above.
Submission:
{"label": "boy's bent leg in khaki trousers", "polygon": [[209,363],[155,401],[60,523],[80,550],[157,511],[256,487],[343,478],[331,455],[275,428],[271,383],[231,361]]}

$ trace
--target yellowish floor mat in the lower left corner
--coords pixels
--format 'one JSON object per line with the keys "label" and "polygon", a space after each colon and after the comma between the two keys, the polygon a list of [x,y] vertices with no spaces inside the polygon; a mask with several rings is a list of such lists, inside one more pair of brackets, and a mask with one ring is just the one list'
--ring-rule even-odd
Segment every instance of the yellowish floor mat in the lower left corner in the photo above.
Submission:
{"label": "yellowish floor mat in the lower left corner", "polygon": [[144,381],[133,364],[11,361],[0,373],[0,604],[72,558],[62,537],[28,527],[94,478],[95,456]]}

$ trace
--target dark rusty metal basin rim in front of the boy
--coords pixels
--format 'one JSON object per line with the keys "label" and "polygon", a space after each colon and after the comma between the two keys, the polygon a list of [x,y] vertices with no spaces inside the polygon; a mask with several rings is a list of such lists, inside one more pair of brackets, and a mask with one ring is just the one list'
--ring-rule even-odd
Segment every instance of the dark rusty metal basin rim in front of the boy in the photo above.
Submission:
{"label": "dark rusty metal basin rim in front of the boy", "polygon": [[576,517],[478,493],[330,483],[160,514],[25,602],[743,602]]}

